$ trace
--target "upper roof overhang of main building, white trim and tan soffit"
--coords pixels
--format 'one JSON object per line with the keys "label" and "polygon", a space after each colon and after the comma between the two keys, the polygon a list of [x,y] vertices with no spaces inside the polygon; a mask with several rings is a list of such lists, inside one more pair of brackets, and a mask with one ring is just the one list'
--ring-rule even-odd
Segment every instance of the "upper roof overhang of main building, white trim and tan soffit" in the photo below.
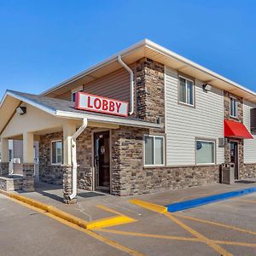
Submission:
{"label": "upper roof overhang of main building, white trim and tan soffit", "polygon": [[49,88],[49,90],[45,90],[41,95],[57,96],[64,93],[64,91],[67,91],[67,85],[70,90],[81,84],[90,83],[94,79],[99,79],[108,73],[112,73],[113,71],[121,68],[117,61],[118,55],[121,55],[123,61],[128,65],[142,59],[143,57],[147,57],[153,61],[158,61],[177,71],[195,77],[195,79],[199,79],[204,83],[212,84],[222,90],[231,91],[233,94],[241,96],[247,101],[256,102],[256,93],[253,90],[249,90],[230,79],[226,79],[224,76],[214,73],[193,61],[189,61],[183,56],[172,52],[172,50],[166,49],[165,47],[160,46],[160,44],[155,44],[148,39],[143,39],[137,44],[133,44],[131,47],[110,56],[105,61],[102,61],[95,66],[78,73],[72,78],[65,80],[61,84],[57,84],[54,87]]}

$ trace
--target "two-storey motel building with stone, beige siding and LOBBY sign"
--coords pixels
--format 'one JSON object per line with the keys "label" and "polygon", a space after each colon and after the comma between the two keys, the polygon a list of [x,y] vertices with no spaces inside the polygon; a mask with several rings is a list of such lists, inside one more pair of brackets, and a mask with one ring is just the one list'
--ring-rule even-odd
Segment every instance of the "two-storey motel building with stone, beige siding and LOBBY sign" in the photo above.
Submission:
{"label": "two-storey motel building with stone, beige siding and LOBBY sign", "polygon": [[236,180],[256,177],[255,132],[255,92],[144,39],[39,95],[6,91],[0,189],[62,184],[73,203],[78,188],[220,183],[229,166]]}

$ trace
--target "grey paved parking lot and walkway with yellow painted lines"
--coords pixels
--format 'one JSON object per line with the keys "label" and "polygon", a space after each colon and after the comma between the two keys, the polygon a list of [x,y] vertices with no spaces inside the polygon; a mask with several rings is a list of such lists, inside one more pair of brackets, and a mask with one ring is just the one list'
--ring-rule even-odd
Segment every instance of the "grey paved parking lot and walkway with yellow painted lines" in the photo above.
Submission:
{"label": "grey paved parking lot and walkway with yellow painted lines", "polygon": [[[1,234],[0,254],[24,255],[27,248],[27,255],[61,255],[63,251],[66,255],[83,255],[85,252],[87,255],[255,255],[256,193],[181,212],[162,211],[163,206],[175,201],[255,187],[254,182],[231,186],[215,184],[125,198],[79,191],[79,202],[73,206],[58,200],[61,189],[48,187],[48,190],[38,190],[40,193],[23,194],[88,223],[120,216],[128,219],[92,228],[92,233],[67,226],[44,212],[20,206],[1,195],[0,211],[5,214],[1,214],[0,224],[1,230],[7,230],[7,233]],[[154,205],[148,206],[147,202]],[[21,236],[26,239],[22,240]],[[22,250],[19,251],[17,244]],[[44,248],[42,252],[41,248]]]}

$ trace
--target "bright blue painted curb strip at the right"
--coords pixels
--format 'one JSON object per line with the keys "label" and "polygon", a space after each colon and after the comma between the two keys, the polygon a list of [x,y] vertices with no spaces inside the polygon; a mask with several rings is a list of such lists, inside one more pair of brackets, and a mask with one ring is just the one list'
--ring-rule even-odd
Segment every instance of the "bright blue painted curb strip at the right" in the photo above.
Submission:
{"label": "bright blue painted curb strip at the right", "polygon": [[231,191],[231,192],[222,193],[218,195],[210,195],[210,196],[196,198],[189,201],[181,201],[181,202],[167,205],[166,207],[168,212],[178,212],[178,211],[183,211],[189,208],[207,205],[216,201],[224,201],[232,197],[251,194],[253,192],[256,192],[256,187],[253,187],[250,189],[241,189],[241,190]]}

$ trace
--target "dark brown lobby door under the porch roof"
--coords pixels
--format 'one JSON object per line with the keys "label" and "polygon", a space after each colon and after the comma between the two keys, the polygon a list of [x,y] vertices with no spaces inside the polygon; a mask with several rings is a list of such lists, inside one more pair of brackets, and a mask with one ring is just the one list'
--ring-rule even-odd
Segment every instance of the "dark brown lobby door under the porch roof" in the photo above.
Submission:
{"label": "dark brown lobby door under the porch roof", "polygon": [[96,170],[96,189],[109,190],[109,131],[94,133],[94,165]]}

